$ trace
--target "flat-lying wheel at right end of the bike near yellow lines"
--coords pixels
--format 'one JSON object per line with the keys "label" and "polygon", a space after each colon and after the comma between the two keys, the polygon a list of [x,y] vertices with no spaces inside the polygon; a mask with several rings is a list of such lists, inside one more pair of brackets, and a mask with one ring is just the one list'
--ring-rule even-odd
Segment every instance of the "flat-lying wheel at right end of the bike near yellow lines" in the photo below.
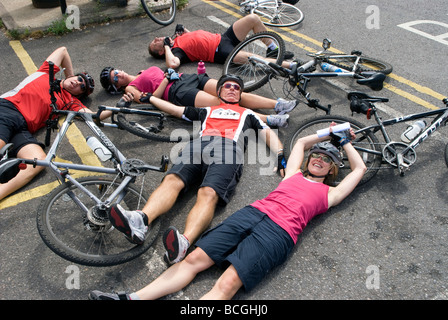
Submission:
{"label": "flat-lying wheel at right end of the bike near yellow lines", "polygon": [[[356,61],[356,56],[353,55],[346,55],[346,54],[329,54],[326,55],[322,61],[328,62],[332,65],[335,65],[339,68],[346,69],[346,70],[352,70],[354,63]],[[358,69],[355,70],[356,73],[365,72],[365,71],[375,71],[375,72],[381,72],[384,74],[389,74],[392,72],[392,65],[378,60],[374,58],[369,58],[365,56],[361,56],[358,62]]]}

